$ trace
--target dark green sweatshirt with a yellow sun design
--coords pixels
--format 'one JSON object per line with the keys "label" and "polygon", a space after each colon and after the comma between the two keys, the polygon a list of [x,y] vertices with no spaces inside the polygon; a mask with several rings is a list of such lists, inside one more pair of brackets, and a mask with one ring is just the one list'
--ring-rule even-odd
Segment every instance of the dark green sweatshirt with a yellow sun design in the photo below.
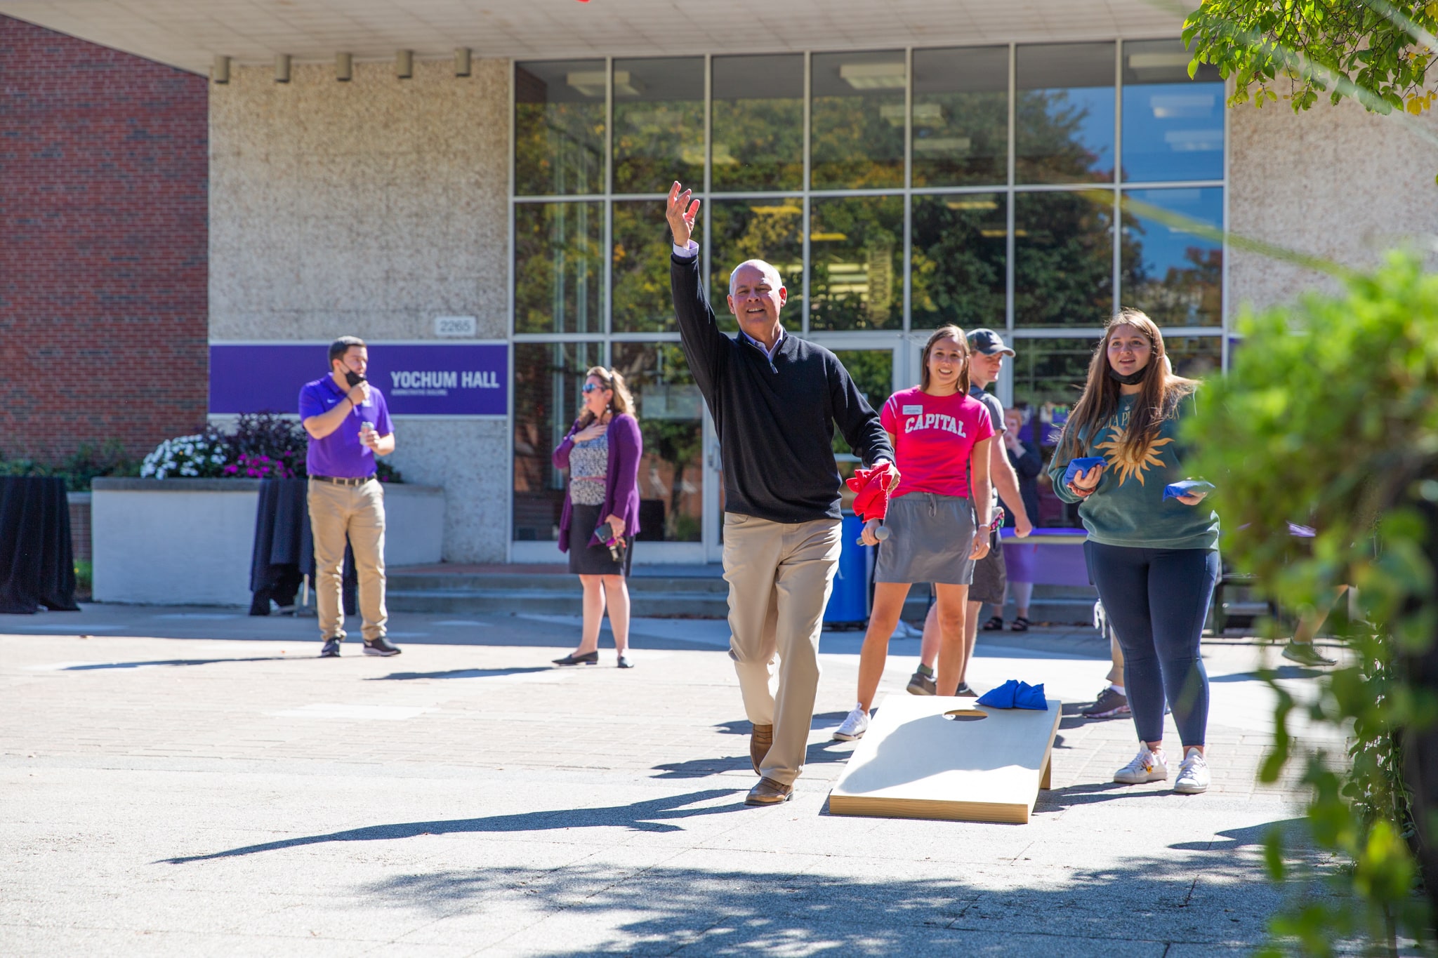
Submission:
{"label": "dark green sweatshirt with a yellow sun design", "polygon": [[1192,396],[1179,404],[1178,415],[1165,419],[1158,437],[1137,461],[1125,457],[1119,440],[1129,424],[1136,395],[1120,396],[1119,411],[1097,431],[1096,437],[1078,435],[1078,452],[1102,455],[1107,460],[1099,488],[1081,498],[1064,485],[1068,460],[1057,455],[1048,467],[1054,493],[1066,503],[1081,503],[1078,518],[1089,530],[1089,539],[1104,546],[1139,549],[1218,549],[1218,513],[1208,501],[1185,506],[1176,498],[1163,498],[1163,487],[1185,478],[1178,442],[1179,421],[1194,415]]}

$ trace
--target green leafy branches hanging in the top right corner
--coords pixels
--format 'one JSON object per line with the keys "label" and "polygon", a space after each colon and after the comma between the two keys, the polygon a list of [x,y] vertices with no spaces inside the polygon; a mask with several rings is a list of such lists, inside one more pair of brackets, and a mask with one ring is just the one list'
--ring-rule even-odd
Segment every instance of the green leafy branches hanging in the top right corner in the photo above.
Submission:
{"label": "green leafy branches hanging in the top right corner", "polygon": [[[1438,0],[1204,0],[1183,22],[1183,43],[1199,63],[1234,80],[1231,106],[1288,101],[1294,112],[1327,93],[1369,111],[1422,113]],[[1287,82],[1287,92],[1274,86]]]}

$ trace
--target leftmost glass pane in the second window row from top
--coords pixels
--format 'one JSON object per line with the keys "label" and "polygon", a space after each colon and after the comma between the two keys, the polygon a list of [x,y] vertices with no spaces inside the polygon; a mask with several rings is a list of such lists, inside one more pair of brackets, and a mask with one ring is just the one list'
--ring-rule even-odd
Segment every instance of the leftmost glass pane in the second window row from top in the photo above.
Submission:
{"label": "leftmost glass pane in the second window row from top", "polygon": [[515,204],[515,332],[604,332],[603,203]]}

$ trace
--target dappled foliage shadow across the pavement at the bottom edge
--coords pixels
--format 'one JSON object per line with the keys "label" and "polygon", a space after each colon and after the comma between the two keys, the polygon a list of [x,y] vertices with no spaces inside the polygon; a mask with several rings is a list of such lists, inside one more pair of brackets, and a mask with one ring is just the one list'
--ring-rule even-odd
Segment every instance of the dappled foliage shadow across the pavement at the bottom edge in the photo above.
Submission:
{"label": "dappled foliage shadow across the pavement at the bottom edge", "polygon": [[[539,921],[604,928],[525,954],[651,955],[1150,955],[1248,954],[1281,889],[1254,882],[1257,852],[1135,855],[1122,868],[1074,870],[1066,880],[995,888],[963,866],[938,876],[851,878],[736,868],[605,862],[565,868],[437,869],[361,885],[361,901],[423,902],[437,919],[513,924],[515,896]],[[1202,878],[1196,878],[1196,876]],[[1002,885],[1002,882],[1001,882]],[[508,911],[506,911],[508,909]],[[437,926],[439,928],[439,926]],[[544,931],[542,925],[536,931]],[[475,932],[467,932],[473,935]],[[503,932],[499,932],[500,935]],[[466,939],[469,947],[498,941]],[[505,941],[512,945],[513,939]]]}

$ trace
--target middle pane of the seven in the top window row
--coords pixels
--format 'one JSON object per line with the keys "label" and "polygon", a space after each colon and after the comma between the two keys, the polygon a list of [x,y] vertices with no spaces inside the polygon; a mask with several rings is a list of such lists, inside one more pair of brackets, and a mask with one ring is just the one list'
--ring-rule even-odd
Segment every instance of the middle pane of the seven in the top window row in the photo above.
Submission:
{"label": "middle pane of the seven in the top window row", "polygon": [[903,52],[815,53],[810,63],[811,187],[902,187]]}

